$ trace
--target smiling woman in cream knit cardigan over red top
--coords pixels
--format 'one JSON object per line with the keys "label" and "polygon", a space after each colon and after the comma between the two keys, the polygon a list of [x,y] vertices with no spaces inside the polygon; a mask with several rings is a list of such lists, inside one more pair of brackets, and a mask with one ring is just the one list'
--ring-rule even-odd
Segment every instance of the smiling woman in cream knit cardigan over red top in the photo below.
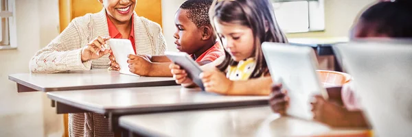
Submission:
{"label": "smiling woman in cream knit cardigan over red top", "polygon": [[[141,0],[143,1],[143,0]],[[47,47],[30,61],[32,73],[108,69],[106,40],[128,39],[136,53],[163,55],[165,40],[158,23],[137,16],[137,0],[98,0],[100,12],[74,18]],[[60,3],[61,6],[61,3]],[[92,5],[84,5],[93,8]],[[102,8],[103,6],[103,8]],[[147,5],[146,5],[147,6]],[[113,69],[115,66],[110,66]],[[87,125],[87,126],[86,126]],[[71,136],[113,136],[101,114],[69,114]]]}

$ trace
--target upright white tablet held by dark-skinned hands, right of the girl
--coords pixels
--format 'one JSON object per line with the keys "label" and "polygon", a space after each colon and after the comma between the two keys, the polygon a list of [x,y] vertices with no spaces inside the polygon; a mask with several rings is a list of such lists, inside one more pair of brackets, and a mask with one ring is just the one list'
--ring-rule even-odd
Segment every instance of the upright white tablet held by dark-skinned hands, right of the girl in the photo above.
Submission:
{"label": "upright white tablet held by dark-skinned hands, right of the girl", "polygon": [[290,102],[286,114],[312,120],[313,95],[328,98],[316,72],[318,64],[312,47],[264,42],[262,50],[273,83],[282,83],[288,90]]}

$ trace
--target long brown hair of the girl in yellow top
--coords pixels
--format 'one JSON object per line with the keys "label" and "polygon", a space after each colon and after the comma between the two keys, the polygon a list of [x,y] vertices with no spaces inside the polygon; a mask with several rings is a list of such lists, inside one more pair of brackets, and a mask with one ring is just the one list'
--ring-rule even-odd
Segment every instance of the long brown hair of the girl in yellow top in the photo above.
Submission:
{"label": "long brown hair of the girl in yellow top", "polygon": [[[244,25],[252,29],[253,36],[255,36],[253,55],[256,67],[250,78],[261,77],[268,73],[262,53],[262,42],[288,42],[277,24],[275,12],[269,0],[215,0],[209,14],[211,23],[216,19],[222,23]],[[268,31],[265,28],[268,28]],[[216,67],[225,72],[229,65],[237,64],[238,62],[234,61],[229,52],[225,50],[225,60]]]}

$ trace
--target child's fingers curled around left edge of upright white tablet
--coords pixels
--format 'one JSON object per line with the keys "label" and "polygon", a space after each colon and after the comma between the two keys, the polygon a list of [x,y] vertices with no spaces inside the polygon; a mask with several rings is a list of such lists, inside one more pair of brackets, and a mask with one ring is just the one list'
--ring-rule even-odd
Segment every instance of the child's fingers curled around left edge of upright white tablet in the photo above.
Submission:
{"label": "child's fingers curled around left edge of upright white tablet", "polygon": [[282,89],[282,84],[273,84],[271,99],[269,104],[273,112],[279,113],[282,116],[286,115],[286,109],[289,105],[288,90]]}

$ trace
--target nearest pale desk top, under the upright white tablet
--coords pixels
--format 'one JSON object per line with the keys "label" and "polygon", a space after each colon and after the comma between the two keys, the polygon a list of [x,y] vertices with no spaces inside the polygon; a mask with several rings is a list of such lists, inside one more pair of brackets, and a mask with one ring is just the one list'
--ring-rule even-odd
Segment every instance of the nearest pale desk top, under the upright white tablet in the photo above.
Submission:
{"label": "nearest pale desk top, under the upright white tablet", "polygon": [[280,117],[268,106],[121,116],[128,136],[337,136],[365,129],[332,129],[321,123]]}

